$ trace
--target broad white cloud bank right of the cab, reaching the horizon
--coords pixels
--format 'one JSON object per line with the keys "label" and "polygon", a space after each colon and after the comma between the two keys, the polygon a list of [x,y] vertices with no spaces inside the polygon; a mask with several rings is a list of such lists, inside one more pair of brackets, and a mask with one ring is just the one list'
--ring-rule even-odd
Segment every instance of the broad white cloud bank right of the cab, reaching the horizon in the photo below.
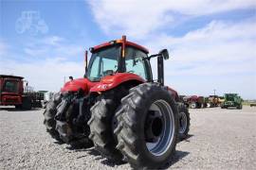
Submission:
{"label": "broad white cloud bank right of the cab, reaching the horizon", "polygon": [[[218,88],[222,93],[233,91],[245,98],[256,98],[255,30],[255,20],[212,21],[183,37],[161,34],[144,44],[154,52],[169,49],[171,58],[165,62],[166,84],[181,93],[208,95]],[[152,63],[156,72],[156,64]]]}

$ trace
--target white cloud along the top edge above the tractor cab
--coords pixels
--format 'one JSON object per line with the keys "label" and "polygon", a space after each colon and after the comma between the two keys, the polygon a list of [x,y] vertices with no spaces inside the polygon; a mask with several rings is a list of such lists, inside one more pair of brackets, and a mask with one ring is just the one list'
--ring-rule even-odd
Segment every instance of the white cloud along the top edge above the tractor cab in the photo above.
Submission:
{"label": "white cloud along the top edge above the tractor cab", "polygon": [[92,0],[89,4],[105,33],[125,33],[137,39],[191,17],[256,7],[254,0]]}

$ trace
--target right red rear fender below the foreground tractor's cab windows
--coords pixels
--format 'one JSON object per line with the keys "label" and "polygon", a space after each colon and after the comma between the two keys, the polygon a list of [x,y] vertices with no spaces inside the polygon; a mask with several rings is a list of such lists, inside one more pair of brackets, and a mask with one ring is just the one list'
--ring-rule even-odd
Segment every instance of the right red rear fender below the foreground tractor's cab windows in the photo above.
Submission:
{"label": "right red rear fender below the foreground tractor's cab windows", "polygon": [[101,82],[90,89],[90,93],[108,91],[119,86],[119,84],[123,82],[131,80],[136,80],[141,83],[145,82],[142,77],[132,73],[117,73],[113,76],[102,77]]}

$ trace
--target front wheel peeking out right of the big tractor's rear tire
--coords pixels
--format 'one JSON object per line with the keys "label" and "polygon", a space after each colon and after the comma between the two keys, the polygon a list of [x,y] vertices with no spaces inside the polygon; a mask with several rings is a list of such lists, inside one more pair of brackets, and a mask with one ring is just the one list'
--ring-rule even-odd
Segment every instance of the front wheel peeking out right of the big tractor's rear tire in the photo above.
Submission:
{"label": "front wheel peeking out right of the big tractor's rear tire", "polygon": [[183,103],[177,104],[178,108],[178,137],[182,141],[188,137],[191,126],[191,117],[188,108]]}

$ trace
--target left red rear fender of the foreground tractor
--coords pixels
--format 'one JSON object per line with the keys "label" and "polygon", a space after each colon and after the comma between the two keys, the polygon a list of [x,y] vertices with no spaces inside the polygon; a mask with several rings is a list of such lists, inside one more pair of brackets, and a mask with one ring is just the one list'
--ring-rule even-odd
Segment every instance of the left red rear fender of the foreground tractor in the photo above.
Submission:
{"label": "left red rear fender of the foreground tractor", "polygon": [[77,78],[67,81],[61,89],[61,92],[78,92],[82,89],[84,93],[89,93],[89,90],[98,83],[99,82],[91,82],[87,78]]}

